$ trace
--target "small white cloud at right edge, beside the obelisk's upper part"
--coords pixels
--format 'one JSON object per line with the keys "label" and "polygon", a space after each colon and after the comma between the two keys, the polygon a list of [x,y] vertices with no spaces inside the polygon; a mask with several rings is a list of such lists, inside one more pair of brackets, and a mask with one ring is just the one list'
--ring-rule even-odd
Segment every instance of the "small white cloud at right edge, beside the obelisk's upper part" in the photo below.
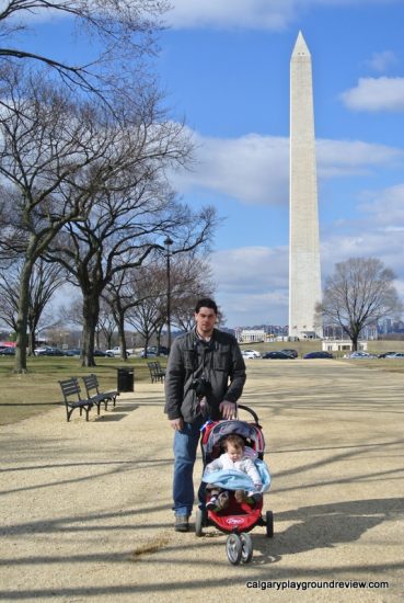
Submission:
{"label": "small white cloud at right edge, beside the obelisk's upper part", "polygon": [[404,111],[404,78],[360,78],[358,86],[340,94],[354,111]]}

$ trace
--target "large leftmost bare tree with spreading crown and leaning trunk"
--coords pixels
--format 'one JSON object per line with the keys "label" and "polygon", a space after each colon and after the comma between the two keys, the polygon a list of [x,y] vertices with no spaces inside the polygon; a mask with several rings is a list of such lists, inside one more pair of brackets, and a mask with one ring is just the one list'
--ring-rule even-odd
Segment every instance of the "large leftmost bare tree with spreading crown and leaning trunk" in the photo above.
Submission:
{"label": "large leftmost bare tree with spreading crown and leaning trunk", "polygon": [[[0,98],[3,177],[2,258],[22,257],[16,372],[26,371],[30,281],[37,259],[64,226],[83,219],[111,166],[107,118],[44,80],[9,69]],[[5,99],[5,104],[2,103]]]}

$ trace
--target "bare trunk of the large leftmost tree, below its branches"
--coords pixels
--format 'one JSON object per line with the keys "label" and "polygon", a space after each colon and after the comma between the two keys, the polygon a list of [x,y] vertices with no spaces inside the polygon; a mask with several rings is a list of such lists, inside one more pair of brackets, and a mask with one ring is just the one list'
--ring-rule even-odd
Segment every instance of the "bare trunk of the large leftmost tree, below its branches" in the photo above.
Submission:
{"label": "bare trunk of the large leftmost tree, below its branches", "polygon": [[30,310],[30,281],[34,262],[25,260],[21,271],[20,291],[19,291],[19,314],[16,318],[16,346],[14,373],[26,373],[26,348],[27,334],[26,328],[28,323]]}

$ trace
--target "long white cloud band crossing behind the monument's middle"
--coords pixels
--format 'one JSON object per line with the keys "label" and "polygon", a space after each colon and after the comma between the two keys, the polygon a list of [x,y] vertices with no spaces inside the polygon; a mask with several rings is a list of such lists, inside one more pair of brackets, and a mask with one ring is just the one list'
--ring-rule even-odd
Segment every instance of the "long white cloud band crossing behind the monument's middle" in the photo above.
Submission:
{"label": "long white cloud band crossing behind the monument's middle", "polygon": [[[275,205],[289,196],[289,139],[249,134],[241,138],[204,138],[195,134],[195,164],[172,179],[181,193],[201,189],[245,204]],[[350,177],[378,167],[395,167],[404,151],[359,140],[319,140],[319,179]]]}

